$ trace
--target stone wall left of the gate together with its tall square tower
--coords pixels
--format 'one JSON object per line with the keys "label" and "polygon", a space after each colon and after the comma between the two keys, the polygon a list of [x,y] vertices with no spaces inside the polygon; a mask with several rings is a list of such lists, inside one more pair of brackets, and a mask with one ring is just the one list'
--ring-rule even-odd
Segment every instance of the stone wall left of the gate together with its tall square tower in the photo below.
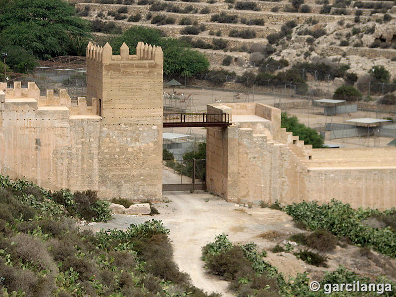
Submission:
{"label": "stone wall left of the gate together with its tall square tower", "polygon": [[102,198],[161,198],[163,53],[142,42],[136,52],[89,44],[77,106],[65,90],[42,97],[35,83],[0,84],[1,174]]}

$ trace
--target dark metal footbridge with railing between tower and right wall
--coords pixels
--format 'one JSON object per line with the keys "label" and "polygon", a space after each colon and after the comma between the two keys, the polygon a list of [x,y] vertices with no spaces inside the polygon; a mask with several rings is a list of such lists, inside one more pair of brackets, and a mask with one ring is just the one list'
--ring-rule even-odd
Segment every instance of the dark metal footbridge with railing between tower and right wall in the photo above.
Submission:
{"label": "dark metal footbridge with railing between tower and right wall", "polygon": [[224,112],[165,113],[163,127],[226,127],[230,115]]}

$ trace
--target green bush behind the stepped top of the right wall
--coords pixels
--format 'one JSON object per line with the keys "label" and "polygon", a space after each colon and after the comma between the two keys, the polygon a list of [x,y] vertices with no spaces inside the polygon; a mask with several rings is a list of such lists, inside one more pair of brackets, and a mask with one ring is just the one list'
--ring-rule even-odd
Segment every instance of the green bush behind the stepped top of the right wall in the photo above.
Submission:
{"label": "green bush behind the stepped top of the right wall", "polygon": [[294,136],[303,140],[306,145],[312,145],[312,148],[323,148],[323,137],[314,129],[306,127],[298,122],[297,116],[289,116],[286,112],[281,114],[281,128],[293,132]]}

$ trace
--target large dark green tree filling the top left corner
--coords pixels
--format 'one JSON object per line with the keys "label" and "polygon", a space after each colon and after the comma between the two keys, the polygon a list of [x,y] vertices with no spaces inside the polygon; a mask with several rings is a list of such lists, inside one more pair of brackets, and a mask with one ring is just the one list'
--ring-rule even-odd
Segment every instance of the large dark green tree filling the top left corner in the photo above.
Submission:
{"label": "large dark green tree filling the top left corner", "polygon": [[88,29],[62,0],[0,1],[0,40],[40,59],[67,54],[72,37],[87,36]]}

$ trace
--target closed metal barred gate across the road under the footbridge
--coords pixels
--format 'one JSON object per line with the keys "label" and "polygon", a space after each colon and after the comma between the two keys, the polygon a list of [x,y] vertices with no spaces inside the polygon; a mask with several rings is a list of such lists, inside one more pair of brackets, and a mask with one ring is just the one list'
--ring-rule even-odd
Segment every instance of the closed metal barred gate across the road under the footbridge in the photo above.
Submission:
{"label": "closed metal barred gate across the road under the footbridge", "polygon": [[205,159],[163,161],[162,191],[206,190],[205,167]]}

